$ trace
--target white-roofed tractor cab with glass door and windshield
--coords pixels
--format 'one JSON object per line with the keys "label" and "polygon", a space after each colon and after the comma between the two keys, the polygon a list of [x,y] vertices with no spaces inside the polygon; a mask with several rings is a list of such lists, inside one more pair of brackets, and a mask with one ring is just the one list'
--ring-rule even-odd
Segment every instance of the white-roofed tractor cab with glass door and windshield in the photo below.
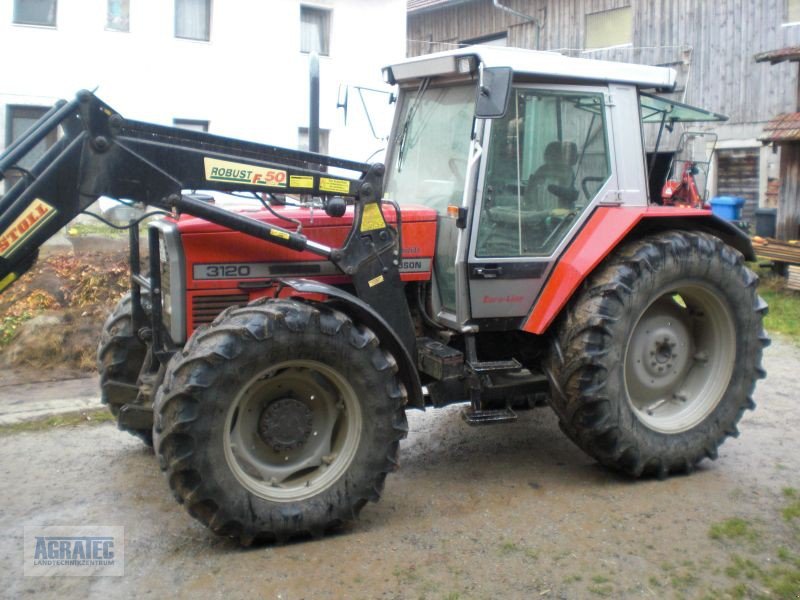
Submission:
{"label": "white-roofed tractor cab with glass door and windshield", "polygon": [[675,86],[661,67],[475,46],[384,73],[399,85],[385,196],[437,211],[433,317],[455,330],[523,318],[598,207],[660,203],[643,122],[660,139],[724,119],[653,95]]}

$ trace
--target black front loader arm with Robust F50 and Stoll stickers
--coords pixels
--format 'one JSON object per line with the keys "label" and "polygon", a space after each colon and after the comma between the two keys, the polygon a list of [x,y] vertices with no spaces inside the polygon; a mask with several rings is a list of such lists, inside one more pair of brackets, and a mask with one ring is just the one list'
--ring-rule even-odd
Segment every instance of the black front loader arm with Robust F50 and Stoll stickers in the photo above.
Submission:
{"label": "black front loader arm with Robust F50 and Stoll stickers", "polygon": [[[18,164],[54,129],[63,135],[29,169]],[[336,167],[355,177],[330,175]],[[413,348],[400,281],[398,233],[380,208],[383,165],[369,165],[208,133],[129,121],[94,94],[59,102],[0,155],[0,292],[36,260],[39,247],[100,196],[187,213],[331,260]],[[353,229],[342,248],[185,196],[182,190],[299,193],[351,198]],[[387,298],[393,300],[387,303]]]}

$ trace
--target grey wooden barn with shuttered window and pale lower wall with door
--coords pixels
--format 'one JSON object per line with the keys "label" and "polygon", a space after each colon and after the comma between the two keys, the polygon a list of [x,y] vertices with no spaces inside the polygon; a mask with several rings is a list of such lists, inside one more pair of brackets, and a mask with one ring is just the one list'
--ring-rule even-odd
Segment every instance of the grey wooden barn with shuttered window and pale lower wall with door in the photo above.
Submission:
{"label": "grey wooden barn with shuttered window and pale lower wall with door", "polygon": [[[800,45],[800,0],[409,0],[407,52],[460,44],[553,50],[674,68],[675,99],[728,115],[710,193],[746,199],[744,217],[774,206],[780,152],[762,144],[776,114],[796,110],[797,70],[753,55]],[[681,131],[666,140],[674,148]],[[655,136],[648,135],[650,149]]]}

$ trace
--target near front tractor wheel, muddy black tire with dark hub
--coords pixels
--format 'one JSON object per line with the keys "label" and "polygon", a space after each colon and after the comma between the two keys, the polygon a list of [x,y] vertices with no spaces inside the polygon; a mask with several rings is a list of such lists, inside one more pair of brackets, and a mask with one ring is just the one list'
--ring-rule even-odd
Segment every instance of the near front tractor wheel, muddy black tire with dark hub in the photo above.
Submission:
{"label": "near front tractor wheel, muddy black tire with dark hub", "polygon": [[355,519],[408,431],[397,371],[371,330],[324,304],[227,309],[172,358],[156,395],[175,498],[245,546]]}

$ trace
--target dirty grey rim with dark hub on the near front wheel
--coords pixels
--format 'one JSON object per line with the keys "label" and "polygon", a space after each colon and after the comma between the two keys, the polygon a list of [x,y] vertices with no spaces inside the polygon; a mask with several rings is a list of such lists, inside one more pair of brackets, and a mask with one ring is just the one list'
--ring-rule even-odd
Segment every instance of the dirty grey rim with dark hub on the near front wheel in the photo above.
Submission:
{"label": "dirty grey rim with dark hub on the near front wheel", "polygon": [[260,372],[231,403],[225,458],[254,494],[304,500],[347,471],[361,428],[356,394],[337,371],[316,361],[287,361]]}

